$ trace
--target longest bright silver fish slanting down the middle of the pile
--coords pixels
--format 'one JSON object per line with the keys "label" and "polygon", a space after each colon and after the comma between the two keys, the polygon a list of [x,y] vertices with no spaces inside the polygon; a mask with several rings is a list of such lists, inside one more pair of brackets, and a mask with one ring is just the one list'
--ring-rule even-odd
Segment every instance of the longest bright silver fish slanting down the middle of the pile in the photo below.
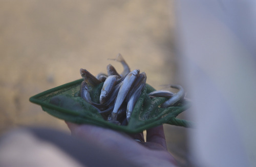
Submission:
{"label": "longest bright silver fish slanting down the middle of the pile", "polygon": [[139,75],[140,70],[136,69],[127,74],[127,76],[123,79],[121,82],[121,87],[119,89],[119,92],[117,94],[117,98],[115,101],[115,106],[112,112],[112,121],[116,121],[117,119],[117,112],[120,106],[122,105],[124,99],[126,98],[127,94],[131,90],[135,80],[137,79]]}

